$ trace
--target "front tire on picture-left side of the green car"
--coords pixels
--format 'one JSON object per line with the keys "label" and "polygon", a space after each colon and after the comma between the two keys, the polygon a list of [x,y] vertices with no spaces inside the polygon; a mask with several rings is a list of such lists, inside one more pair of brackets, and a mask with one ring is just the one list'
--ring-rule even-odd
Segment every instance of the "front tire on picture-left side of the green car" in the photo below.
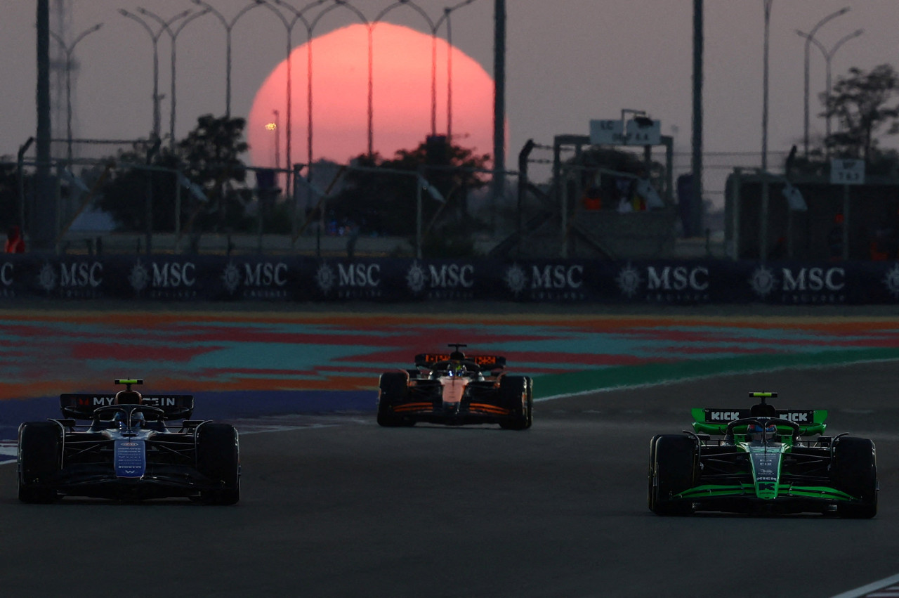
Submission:
{"label": "front tire on picture-left side of the green car", "polygon": [[688,515],[693,512],[689,501],[672,501],[694,485],[696,478],[696,446],[680,434],[663,434],[654,442],[653,472],[650,478],[649,508],[657,515]]}

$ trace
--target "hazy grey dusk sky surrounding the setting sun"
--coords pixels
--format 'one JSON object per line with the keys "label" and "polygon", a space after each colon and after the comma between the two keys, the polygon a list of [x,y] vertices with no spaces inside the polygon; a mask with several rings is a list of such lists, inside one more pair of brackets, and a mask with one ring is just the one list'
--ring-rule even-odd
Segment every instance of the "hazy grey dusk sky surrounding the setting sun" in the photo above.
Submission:
{"label": "hazy grey dusk sky surrounding the setting sun", "polygon": [[[14,157],[18,147],[36,129],[36,3],[33,0],[0,0],[0,3],[4,7],[4,19],[0,22],[0,56],[3,57],[0,80],[4,82],[0,93],[3,113],[0,156]],[[372,19],[393,1],[352,0],[351,3]],[[52,0],[50,4],[54,4]],[[137,13],[138,6],[143,6],[168,19],[184,10],[200,8],[190,0],[144,0],[133,4],[122,0],[72,0],[71,4],[74,8],[67,33],[69,43],[82,31],[103,23],[99,31],[78,42],[73,51],[79,63],[74,87],[74,136],[146,137],[153,124],[151,40],[147,31],[122,16],[119,10]],[[250,3],[209,0],[209,4],[231,20]],[[305,4],[294,5],[300,8]],[[330,4],[329,0],[325,6]],[[436,21],[445,5],[458,2],[416,0],[415,4]],[[549,146],[558,134],[587,135],[591,119],[620,118],[622,109],[643,110],[661,120],[663,134],[674,136],[675,151],[682,154],[678,161],[689,165],[693,6],[690,0],[507,0],[506,4],[509,138],[506,159],[510,168],[517,167],[517,155],[529,138]],[[863,35],[846,40],[833,54],[833,80],[845,75],[850,67],[867,71],[883,63],[899,65],[899,36],[895,33],[899,3],[895,0],[774,0],[770,18],[769,162],[772,170],[779,170],[782,156],[790,146],[796,143],[802,147],[806,41],[796,30],[809,31],[823,17],[846,6],[850,7],[849,13],[827,22],[815,34],[825,49],[832,49],[853,31],[864,30]],[[758,165],[763,0],[706,0],[705,10],[704,149],[710,153],[754,152],[755,156],[732,156],[726,160],[733,164]],[[317,12],[318,9],[312,9],[307,16]],[[453,45],[493,75],[494,0],[474,0],[458,8],[450,18]],[[387,15],[386,21],[431,33],[421,14],[409,6],[396,8]],[[316,37],[325,35],[353,22],[356,21],[352,13],[345,8],[336,9],[318,22],[313,33]],[[54,27],[51,21],[51,29]],[[158,26],[153,28],[157,30]],[[445,24],[437,34],[441,40],[446,39]],[[377,35],[376,30],[376,44]],[[285,57],[286,39],[282,22],[265,8],[255,8],[235,23],[232,115],[248,115],[257,90]],[[306,30],[300,24],[293,32],[294,46],[305,41]],[[160,104],[161,123],[165,132],[170,118],[171,43],[167,34],[161,36],[158,47],[159,88],[160,94],[165,94]],[[821,107],[817,96],[825,85],[825,61],[820,49],[812,46],[811,50],[810,130],[814,138],[824,130],[824,121],[816,114]],[[319,58],[315,52],[313,56],[314,60]],[[179,34],[176,138],[192,129],[201,114],[224,114],[225,57],[225,27],[212,14],[190,22]],[[360,53],[359,68],[365,69],[366,64],[367,56]],[[442,62],[438,66],[441,72],[445,68]],[[313,72],[316,73],[315,67]],[[314,90],[316,100],[324,97],[319,93]],[[438,94],[444,97],[445,89],[439,89]],[[458,106],[467,101],[463,87],[454,85],[453,100],[454,111],[461,110]],[[425,105],[428,112],[429,104]],[[486,108],[492,110],[492,105]],[[54,123],[54,129],[64,133],[65,106],[59,113],[63,122],[58,123],[58,129]],[[294,106],[293,119],[295,125],[298,121],[305,122],[303,100]],[[445,116],[438,117],[439,129],[445,129],[443,119]],[[422,138],[428,132],[423,130]],[[465,131],[454,128],[455,132]],[[465,145],[464,140],[460,145]],[[897,147],[897,140],[886,138],[884,145]],[[490,153],[492,147],[476,147],[476,150]],[[551,155],[542,151],[533,156],[549,158]],[[302,161],[302,156],[294,161]],[[709,192],[714,194],[715,190]]]}

